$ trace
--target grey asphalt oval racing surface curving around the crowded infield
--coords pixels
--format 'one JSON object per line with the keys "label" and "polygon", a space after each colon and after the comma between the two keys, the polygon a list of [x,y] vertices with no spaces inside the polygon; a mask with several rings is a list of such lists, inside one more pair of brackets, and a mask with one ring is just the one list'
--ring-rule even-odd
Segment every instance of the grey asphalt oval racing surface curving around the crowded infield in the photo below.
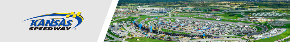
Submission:
{"label": "grey asphalt oval racing surface curving around the crowded infield", "polygon": [[[238,24],[238,25],[255,25],[255,26],[259,26],[259,27],[261,27],[261,28],[263,29],[261,32],[252,32],[252,33],[249,33],[249,34],[247,34],[247,35],[255,35],[255,34],[259,34],[259,33],[266,32],[266,31],[268,30],[268,28],[266,28],[266,27],[263,26],[263,25],[258,25],[258,24],[253,24],[253,23],[212,21],[212,20],[203,20],[203,19],[195,19],[195,18],[183,18],[183,17],[164,17],[164,18],[152,18],[152,19],[168,19],[168,18],[187,19],[187,20],[195,20],[195,21],[206,21],[206,22],[215,22],[215,23],[228,23],[228,24]],[[145,21],[152,20],[152,19],[145,19],[145,20],[142,20],[141,23],[142,23],[143,25],[147,25],[147,24],[145,24]]]}

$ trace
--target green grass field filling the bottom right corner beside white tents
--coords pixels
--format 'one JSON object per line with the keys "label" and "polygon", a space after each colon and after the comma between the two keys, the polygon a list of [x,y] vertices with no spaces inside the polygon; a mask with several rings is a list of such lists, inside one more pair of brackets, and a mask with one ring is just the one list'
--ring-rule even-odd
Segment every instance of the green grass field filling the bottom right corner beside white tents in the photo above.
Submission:
{"label": "green grass field filling the bottom right corner beside white tents", "polygon": [[273,36],[273,37],[266,38],[266,39],[254,40],[254,42],[273,42],[273,41],[276,41],[278,39],[285,38],[289,35],[290,35],[290,28],[287,28],[287,30],[280,35]]}

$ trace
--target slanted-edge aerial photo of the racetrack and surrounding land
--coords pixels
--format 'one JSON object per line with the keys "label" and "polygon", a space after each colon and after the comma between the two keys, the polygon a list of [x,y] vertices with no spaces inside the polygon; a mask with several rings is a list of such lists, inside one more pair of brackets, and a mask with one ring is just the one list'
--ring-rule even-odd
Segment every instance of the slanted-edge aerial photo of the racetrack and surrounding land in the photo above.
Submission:
{"label": "slanted-edge aerial photo of the racetrack and surrounding land", "polygon": [[119,0],[104,42],[290,42],[288,0]]}

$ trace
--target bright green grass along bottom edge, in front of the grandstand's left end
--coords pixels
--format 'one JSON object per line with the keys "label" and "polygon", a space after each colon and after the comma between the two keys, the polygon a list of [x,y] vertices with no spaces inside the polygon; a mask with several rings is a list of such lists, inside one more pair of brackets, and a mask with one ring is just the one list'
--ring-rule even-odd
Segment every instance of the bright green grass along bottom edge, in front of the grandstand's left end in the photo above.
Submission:
{"label": "bright green grass along bottom edge, in front of the grandstand's left end", "polygon": [[[137,41],[136,39],[139,39],[140,41]],[[146,37],[140,37],[140,38],[134,38],[134,39],[125,39],[125,41],[128,42],[175,42],[175,41],[164,41],[164,40],[158,40],[158,39],[151,39]]]}

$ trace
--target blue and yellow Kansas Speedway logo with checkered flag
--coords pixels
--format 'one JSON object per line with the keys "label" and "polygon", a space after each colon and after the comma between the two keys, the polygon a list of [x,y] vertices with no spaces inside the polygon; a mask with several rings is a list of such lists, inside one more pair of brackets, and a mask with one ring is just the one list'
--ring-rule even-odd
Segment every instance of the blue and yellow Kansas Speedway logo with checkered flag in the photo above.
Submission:
{"label": "blue and yellow Kansas Speedway logo with checkered flag", "polygon": [[[27,21],[30,20],[30,21]],[[28,30],[69,30],[77,27],[84,21],[81,12],[44,14],[26,19],[22,22],[31,22]]]}

